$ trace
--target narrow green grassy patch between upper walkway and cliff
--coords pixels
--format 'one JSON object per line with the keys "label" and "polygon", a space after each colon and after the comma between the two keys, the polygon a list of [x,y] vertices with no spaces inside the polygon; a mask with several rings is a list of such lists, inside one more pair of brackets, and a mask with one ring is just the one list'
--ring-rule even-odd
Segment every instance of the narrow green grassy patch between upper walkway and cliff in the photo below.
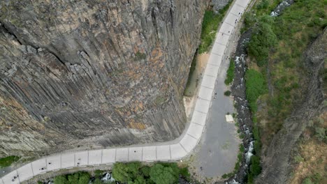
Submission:
{"label": "narrow green grassy patch between upper walkway and cliff", "polygon": [[213,10],[206,10],[202,22],[201,31],[201,45],[198,47],[198,53],[202,54],[208,52],[208,49],[215,40],[219,23],[224,18],[226,11],[233,1],[229,1],[228,4],[219,10],[216,15]]}

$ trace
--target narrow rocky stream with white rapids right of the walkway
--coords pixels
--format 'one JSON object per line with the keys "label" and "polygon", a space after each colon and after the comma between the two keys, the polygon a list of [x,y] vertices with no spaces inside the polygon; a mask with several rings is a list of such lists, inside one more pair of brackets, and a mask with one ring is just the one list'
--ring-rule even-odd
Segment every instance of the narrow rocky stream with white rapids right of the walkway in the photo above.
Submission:
{"label": "narrow rocky stream with white rapids right of the walkway", "polygon": [[[282,11],[291,5],[294,0],[284,0],[270,13],[270,16],[276,17],[282,13]],[[246,45],[251,37],[252,30],[242,33],[240,40],[238,41],[238,46],[235,52],[235,78],[232,86],[232,94],[234,96],[236,110],[238,112],[237,121],[240,125],[240,131],[244,135],[242,139],[242,144],[245,148],[245,153],[243,153],[243,159],[241,162],[240,169],[235,174],[235,176],[229,178],[225,183],[228,184],[238,184],[244,183],[249,170],[249,162],[253,155],[254,150],[254,138],[252,135],[252,115],[249,110],[249,106],[245,95],[245,70],[247,69],[246,59],[247,59],[247,48]]]}

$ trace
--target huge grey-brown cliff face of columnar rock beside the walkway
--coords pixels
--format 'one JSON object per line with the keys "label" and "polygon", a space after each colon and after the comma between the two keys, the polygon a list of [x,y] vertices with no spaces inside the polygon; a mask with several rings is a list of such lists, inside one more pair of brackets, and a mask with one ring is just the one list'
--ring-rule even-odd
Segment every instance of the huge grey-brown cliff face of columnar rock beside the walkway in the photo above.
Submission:
{"label": "huge grey-brown cliff face of columnar rock beside the walkway", "polygon": [[1,1],[0,156],[178,137],[207,4]]}

